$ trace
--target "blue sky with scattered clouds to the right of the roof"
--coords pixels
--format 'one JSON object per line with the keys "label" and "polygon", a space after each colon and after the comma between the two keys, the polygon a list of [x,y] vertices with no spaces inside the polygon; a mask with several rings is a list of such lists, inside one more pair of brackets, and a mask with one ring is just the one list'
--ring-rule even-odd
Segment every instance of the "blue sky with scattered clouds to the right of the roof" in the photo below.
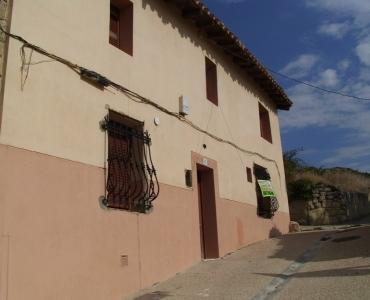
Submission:
{"label": "blue sky with scattered clouds to the right of the roof", "polygon": [[[268,68],[370,98],[370,0],[204,0]],[[285,150],[308,164],[370,172],[370,101],[274,77],[294,102],[279,112]]]}

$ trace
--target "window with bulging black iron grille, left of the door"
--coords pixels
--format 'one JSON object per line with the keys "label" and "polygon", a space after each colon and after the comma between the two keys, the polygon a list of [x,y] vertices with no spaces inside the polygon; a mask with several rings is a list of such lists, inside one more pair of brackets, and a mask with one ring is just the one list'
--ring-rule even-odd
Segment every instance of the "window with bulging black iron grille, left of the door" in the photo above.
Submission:
{"label": "window with bulging black iron grille, left of the door", "polygon": [[103,128],[108,136],[105,205],[145,213],[159,194],[151,138],[143,123],[109,112]]}

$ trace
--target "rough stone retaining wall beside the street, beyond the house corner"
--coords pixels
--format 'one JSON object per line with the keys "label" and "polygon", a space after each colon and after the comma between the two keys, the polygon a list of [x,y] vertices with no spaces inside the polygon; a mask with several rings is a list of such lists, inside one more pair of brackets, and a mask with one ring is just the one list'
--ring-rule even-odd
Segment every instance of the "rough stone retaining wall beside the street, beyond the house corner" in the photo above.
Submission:
{"label": "rough stone retaining wall beside the street, beyond the house corner", "polygon": [[368,194],[342,192],[333,186],[317,184],[309,201],[289,203],[292,221],[307,225],[341,224],[370,214]]}

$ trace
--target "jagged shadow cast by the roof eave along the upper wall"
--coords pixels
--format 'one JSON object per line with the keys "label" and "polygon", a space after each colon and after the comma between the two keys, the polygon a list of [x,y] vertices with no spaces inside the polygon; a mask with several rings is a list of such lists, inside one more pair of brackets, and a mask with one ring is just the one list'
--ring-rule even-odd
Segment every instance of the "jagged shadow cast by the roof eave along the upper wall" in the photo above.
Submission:
{"label": "jagged shadow cast by the roof eave along the upper wall", "polygon": [[[207,50],[211,49],[211,56],[217,62],[219,62],[220,65],[222,65],[224,71],[232,78],[234,82],[237,82],[256,98],[260,98],[261,94],[266,94],[262,92],[261,88],[245,71],[233,63],[231,58],[225,57],[225,53],[222,50],[217,49],[217,45],[215,43],[210,43],[206,33],[203,33],[200,29],[197,29],[194,24],[191,24],[189,20],[183,18],[181,16],[181,11],[178,10],[174,5],[171,6],[165,1],[142,1],[143,9],[150,7],[152,11],[157,13],[164,25],[171,25],[174,30],[177,30],[181,37],[190,40],[195,47],[200,48],[207,53],[209,53]],[[206,46],[208,44],[210,44],[211,47]],[[212,45],[214,46],[212,47]],[[265,98],[268,99],[267,94]],[[270,103],[270,101],[264,101],[264,103],[271,110],[274,110],[274,106],[272,103]]]}

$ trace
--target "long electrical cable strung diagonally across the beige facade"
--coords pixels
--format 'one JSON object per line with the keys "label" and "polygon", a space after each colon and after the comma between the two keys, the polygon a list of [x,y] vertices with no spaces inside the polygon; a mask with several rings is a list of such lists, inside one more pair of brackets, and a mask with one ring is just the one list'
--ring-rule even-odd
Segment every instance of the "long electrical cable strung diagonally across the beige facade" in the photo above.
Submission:
{"label": "long electrical cable strung diagonally across the beige facade", "polygon": [[[52,60],[55,60],[55,61],[58,61],[66,66],[68,66],[69,68],[71,68],[74,72],[78,73],[79,75],[83,75],[83,74],[86,74],[88,73],[89,75],[91,76],[94,76],[95,79],[97,79],[99,82],[103,82],[105,86],[111,86],[113,87],[114,89],[122,92],[123,94],[125,94],[126,96],[129,97],[129,99],[136,99],[134,101],[139,101],[143,104],[147,104],[147,105],[150,105],[152,107],[154,107],[155,109],[163,112],[163,113],[166,113],[174,118],[177,118],[178,120],[180,120],[181,122],[187,124],[188,126],[192,127],[193,129],[199,131],[200,133],[203,133],[207,136],[209,136],[210,138],[220,142],[220,143],[224,143],[224,144],[228,144],[234,148],[236,148],[237,150],[247,154],[247,155],[251,155],[251,156],[256,156],[256,157],[259,157],[260,159],[264,160],[264,161],[267,161],[267,162],[271,162],[275,165],[277,171],[278,171],[278,174],[279,174],[279,177],[280,177],[280,172],[279,172],[279,166],[278,166],[278,163],[271,159],[271,158],[268,158],[267,156],[263,155],[263,154],[260,154],[258,152],[255,152],[255,151],[250,151],[250,150],[247,150],[237,144],[235,144],[234,142],[230,141],[230,140],[226,140],[226,139],[223,139],[215,134],[212,134],[210,133],[209,131],[205,130],[205,129],[202,129],[201,127],[199,127],[198,125],[194,124],[192,121],[186,119],[185,117],[183,117],[182,115],[180,115],[179,113],[176,113],[176,112],[172,112],[170,110],[168,110],[167,108],[159,105],[158,103],[154,102],[153,100],[149,99],[149,98],[146,98],[146,97],[143,97],[141,95],[139,95],[138,93],[134,92],[134,91],[131,91],[129,90],[128,88],[125,88],[124,86],[118,84],[118,83],[115,83],[113,81],[111,81],[110,79],[104,77],[103,75],[95,72],[95,71],[92,71],[92,70],[89,70],[87,68],[84,68],[78,64],[75,64],[67,59],[64,59],[60,56],[57,56],[53,53],[50,53],[46,50],[44,50],[43,48],[37,46],[37,45],[34,45],[32,43],[29,43],[27,40],[25,40],[23,37],[19,36],[19,35],[15,35],[15,34],[12,34],[12,33],[9,33],[7,32],[6,30],[3,29],[3,27],[0,25],[0,31],[2,33],[4,33],[6,36],[8,37],[11,37],[19,42],[21,42],[23,45],[22,45],[22,48],[29,48],[29,49],[32,49],[36,52],[38,52],[39,54],[42,54],[46,57],[49,57],[51,58]],[[22,49],[21,48],[21,49]],[[280,179],[281,180],[281,179]]]}

